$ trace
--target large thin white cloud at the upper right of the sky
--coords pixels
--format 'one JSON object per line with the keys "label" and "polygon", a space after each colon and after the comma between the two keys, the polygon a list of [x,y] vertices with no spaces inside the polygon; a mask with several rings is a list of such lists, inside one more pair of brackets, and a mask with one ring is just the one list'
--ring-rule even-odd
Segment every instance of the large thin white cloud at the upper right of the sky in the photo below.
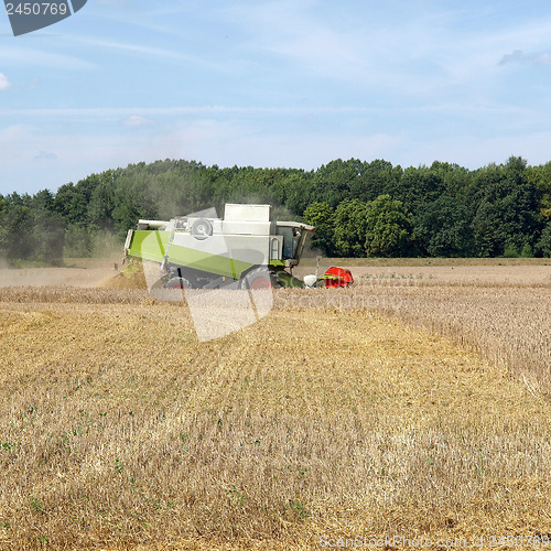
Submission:
{"label": "large thin white cloud at the upper right of the sky", "polygon": [[[247,55],[271,55],[270,63],[284,63],[300,75],[300,84],[325,80],[321,93],[338,85],[345,94],[376,95],[378,102],[385,95],[402,105],[489,100],[501,85],[504,53],[519,47],[551,52],[551,19],[545,17],[504,23],[501,9],[474,2],[447,10],[434,9],[434,2],[414,2],[413,8],[392,2],[395,8],[403,3],[396,12],[374,2],[352,11],[349,3],[246,2],[228,12],[250,36]],[[551,63],[551,55],[526,61]]]}

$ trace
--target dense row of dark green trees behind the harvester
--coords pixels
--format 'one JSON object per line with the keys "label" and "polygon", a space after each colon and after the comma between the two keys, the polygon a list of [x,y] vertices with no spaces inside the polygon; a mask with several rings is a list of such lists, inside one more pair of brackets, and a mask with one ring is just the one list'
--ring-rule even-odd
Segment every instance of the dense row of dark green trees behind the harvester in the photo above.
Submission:
{"label": "dense row of dark green trees behind the harvester", "polygon": [[269,203],[317,227],[338,257],[551,257],[551,162],[522,158],[467,170],[341,159],[315,171],[165,160],[90,174],[55,193],[0,195],[0,256],[60,263],[120,244],[139,218],[170,219],[225,203]]}

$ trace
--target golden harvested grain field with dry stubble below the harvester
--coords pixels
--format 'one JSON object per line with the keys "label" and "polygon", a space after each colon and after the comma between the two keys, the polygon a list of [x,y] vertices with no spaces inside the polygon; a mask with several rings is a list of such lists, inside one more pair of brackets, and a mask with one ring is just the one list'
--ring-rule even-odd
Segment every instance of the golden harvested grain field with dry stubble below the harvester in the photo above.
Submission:
{"label": "golden harvested grain field with dry stubble below the harvester", "polygon": [[551,268],[463,268],[207,343],[136,278],[0,289],[0,549],[551,545]]}

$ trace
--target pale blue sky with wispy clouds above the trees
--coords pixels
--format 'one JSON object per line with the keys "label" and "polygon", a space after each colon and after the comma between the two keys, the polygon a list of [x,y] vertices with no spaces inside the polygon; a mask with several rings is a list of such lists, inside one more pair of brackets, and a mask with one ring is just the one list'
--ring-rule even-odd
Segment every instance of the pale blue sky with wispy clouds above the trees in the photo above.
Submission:
{"label": "pale blue sky with wispy clouds above the trees", "polygon": [[550,144],[543,0],[88,0],[17,37],[0,13],[1,194],[168,158],[475,169]]}

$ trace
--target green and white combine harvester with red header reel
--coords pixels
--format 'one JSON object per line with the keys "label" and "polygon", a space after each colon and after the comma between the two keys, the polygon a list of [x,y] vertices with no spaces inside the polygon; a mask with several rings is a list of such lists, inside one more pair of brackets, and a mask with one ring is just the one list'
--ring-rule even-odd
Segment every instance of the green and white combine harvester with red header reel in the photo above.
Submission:
{"label": "green and white combine harvester with red header reel", "polygon": [[164,220],[140,220],[128,231],[125,258],[159,264],[156,289],[348,287],[349,270],[332,267],[321,278],[292,274],[313,226],[271,220],[270,205],[227,204],[214,210]]}

